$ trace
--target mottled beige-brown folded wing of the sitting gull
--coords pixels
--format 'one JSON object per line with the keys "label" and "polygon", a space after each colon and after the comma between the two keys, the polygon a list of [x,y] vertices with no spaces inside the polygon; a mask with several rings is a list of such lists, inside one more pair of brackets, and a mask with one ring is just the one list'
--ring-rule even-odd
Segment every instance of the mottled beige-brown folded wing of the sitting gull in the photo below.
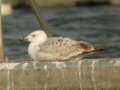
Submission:
{"label": "mottled beige-brown folded wing of the sitting gull", "polygon": [[48,60],[66,60],[94,49],[87,42],[75,41],[65,37],[49,38],[39,47],[39,58]]}

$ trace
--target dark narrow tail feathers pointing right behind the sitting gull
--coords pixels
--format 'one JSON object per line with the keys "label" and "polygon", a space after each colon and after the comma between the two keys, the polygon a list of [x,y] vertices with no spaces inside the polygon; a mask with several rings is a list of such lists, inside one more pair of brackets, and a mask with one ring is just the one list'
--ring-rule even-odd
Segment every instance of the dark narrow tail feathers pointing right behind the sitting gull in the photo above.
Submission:
{"label": "dark narrow tail feathers pointing right behind the sitting gull", "polygon": [[94,50],[91,50],[91,51],[86,51],[86,52],[83,52],[83,56],[87,56],[87,55],[91,55],[91,54],[96,54],[96,53],[99,53],[99,52],[103,52],[103,51],[106,51],[106,50],[110,50],[112,47],[100,47],[100,48],[95,48]]}

